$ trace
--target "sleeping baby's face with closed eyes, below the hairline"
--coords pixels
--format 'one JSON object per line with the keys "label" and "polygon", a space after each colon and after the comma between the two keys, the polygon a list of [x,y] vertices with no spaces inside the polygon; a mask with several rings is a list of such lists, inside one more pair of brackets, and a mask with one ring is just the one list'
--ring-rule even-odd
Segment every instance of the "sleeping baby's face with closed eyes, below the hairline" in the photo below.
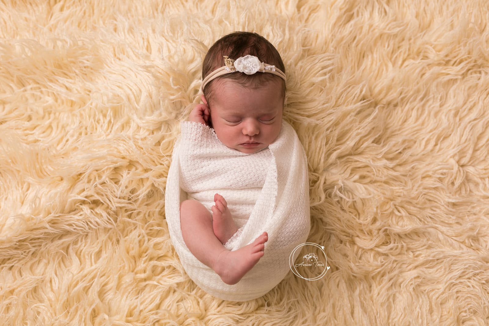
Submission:
{"label": "sleeping baby's face with closed eyes, below the hairline", "polygon": [[210,115],[219,140],[244,153],[267,148],[277,139],[282,126],[281,85],[280,81],[272,81],[251,88],[232,80],[216,81]]}

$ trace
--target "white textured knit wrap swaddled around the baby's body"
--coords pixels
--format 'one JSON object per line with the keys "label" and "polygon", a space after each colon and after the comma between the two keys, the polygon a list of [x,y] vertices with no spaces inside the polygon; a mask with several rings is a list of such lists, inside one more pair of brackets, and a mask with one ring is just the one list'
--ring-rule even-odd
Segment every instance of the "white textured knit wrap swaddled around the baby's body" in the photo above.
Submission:
{"label": "white textured knit wrap swaddled around the baby's body", "polygon": [[[181,234],[180,202],[195,198],[210,209],[215,193],[226,199],[241,227],[226,243],[227,249],[237,250],[268,233],[265,255],[234,285],[223,283],[197,260]],[[307,160],[297,134],[283,121],[268,149],[246,154],[222,144],[213,129],[182,122],[168,173],[165,215],[183,268],[200,288],[231,301],[263,296],[285,278],[290,253],[310,231]]]}

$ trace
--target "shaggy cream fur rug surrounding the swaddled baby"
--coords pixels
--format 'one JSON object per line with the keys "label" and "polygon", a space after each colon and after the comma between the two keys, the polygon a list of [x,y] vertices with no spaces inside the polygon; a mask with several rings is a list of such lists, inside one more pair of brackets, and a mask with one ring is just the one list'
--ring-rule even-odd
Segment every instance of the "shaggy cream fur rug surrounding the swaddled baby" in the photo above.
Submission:
{"label": "shaggy cream fur rug surrounding the swaddled baby", "polygon": [[[0,2],[0,325],[487,325],[487,0]],[[215,299],[164,189],[207,48],[282,54],[330,270]],[[265,276],[264,276],[265,277]]]}

